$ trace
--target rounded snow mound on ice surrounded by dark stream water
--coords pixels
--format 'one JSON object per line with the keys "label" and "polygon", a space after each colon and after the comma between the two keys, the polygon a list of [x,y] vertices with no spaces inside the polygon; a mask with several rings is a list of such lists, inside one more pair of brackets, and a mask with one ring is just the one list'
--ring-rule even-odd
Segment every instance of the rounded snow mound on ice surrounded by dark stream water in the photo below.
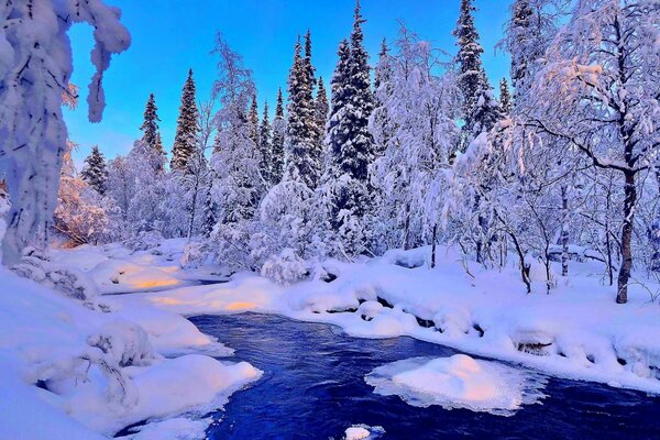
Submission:
{"label": "rounded snow mound on ice surrounded by dark stream water", "polygon": [[522,405],[538,403],[546,380],[532,372],[464,354],[414,358],[377,367],[367,384],[383,396],[397,395],[413,406],[512,416]]}

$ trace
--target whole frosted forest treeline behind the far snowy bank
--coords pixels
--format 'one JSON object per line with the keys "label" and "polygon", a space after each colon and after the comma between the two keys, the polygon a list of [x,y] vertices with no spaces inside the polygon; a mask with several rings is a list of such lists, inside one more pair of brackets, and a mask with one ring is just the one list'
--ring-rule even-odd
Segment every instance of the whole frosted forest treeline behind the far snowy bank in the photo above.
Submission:
{"label": "whole frosted forest treeline behind the far snowy bank", "polygon": [[513,256],[528,292],[540,262],[549,292],[569,260],[593,258],[625,302],[634,267],[660,270],[660,6],[514,1],[499,44],[513,92],[502,80],[498,98],[474,11],[461,1],[451,59],[402,25],[372,82],[358,4],[330,102],[308,32],[272,120],[219,35],[212,98],[196,102],[190,73],[169,169],[153,96],[127,157],[86,161],[107,212],[94,240],[196,238],[190,261],[283,283],[322,275],[328,257],[453,243],[488,267]]}

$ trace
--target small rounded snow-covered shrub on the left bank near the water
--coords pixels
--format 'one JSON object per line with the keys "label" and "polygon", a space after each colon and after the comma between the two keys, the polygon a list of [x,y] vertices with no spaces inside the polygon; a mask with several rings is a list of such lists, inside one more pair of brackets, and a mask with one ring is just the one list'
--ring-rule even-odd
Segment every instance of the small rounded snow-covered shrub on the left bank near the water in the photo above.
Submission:
{"label": "small rounded snow-covered shrub on the left bank near the water", "polygon": [[87,339],[87,343],[100,349],[122,367],[148,365],[156,359],[144,329],[130,321],[107,322]]}

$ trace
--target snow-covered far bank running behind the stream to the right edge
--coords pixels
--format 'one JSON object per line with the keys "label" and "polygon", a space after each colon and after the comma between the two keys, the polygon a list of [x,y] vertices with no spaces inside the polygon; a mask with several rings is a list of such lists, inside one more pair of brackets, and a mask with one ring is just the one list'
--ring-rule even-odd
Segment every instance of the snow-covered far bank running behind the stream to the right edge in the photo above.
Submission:
{"label": "snow-covered far bank running behind the stream to the right edge", "polygon": [[286,287],[239,273],[226,284],[117,300],[124,309],[272,312],[338,324],[356,337],[410,336],[561,377],[660,393],[660,307],[649,296],[660,289],[657,284],[631,286],[629,304],[617,305],[598,264],[572,262],[571,275],[559,277],[550,295],[535,273],[541,268],[534,267],[535,293],[526,295],[513,266],[486,271],[442,249],[430,270],[429,254],[419,249],[351,264],[327,262],[316,279]]}

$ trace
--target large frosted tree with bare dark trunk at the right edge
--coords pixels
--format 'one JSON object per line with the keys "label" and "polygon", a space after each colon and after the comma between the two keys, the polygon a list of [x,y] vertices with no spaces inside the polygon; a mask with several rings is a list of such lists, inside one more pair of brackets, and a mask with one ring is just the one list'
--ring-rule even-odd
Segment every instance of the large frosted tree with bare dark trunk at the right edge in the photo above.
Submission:
{"label": "large frosted tree with bare dark trunk at the right edge", "polygon": [[635,213],[660,153],[659,22],[656,2],[579,1],[547,51],[548,64],[525,109],[530,127],[618,176],[624,201],[617,302],[627,301]]}

